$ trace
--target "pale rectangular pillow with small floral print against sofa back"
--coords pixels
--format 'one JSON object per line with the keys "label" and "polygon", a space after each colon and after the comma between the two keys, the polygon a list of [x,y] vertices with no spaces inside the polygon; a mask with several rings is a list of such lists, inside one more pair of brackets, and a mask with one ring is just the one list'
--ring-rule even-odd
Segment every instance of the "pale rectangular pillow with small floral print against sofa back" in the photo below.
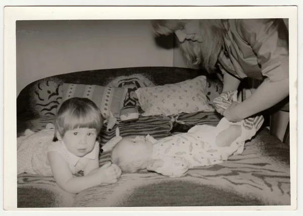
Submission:
{"label": "pale rectangular pillow with small floral print against sofa back", "polygon": [[141,87],[135,92],[144,111],[142,116],[170,116],[199,111],[214,112],[208,103],[206,88],[206,76],[198,76],[175,84]]}

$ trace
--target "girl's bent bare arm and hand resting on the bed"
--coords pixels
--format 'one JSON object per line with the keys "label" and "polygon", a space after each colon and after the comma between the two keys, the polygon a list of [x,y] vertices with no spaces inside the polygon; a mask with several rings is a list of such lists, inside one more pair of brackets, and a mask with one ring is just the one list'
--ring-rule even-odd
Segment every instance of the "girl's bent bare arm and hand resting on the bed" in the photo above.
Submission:
{"label": "girl's bent bare arm and hand resting on the bed", "polygon": [[70,171],[69,165],[61,154],[56,151],[49,151],[47,156],[57,184],[69,193],[76,194],[82,190],[102,183],[117,182],[116,167],[112,166],[111,163],[98,168],[94,174],[74,177]]}

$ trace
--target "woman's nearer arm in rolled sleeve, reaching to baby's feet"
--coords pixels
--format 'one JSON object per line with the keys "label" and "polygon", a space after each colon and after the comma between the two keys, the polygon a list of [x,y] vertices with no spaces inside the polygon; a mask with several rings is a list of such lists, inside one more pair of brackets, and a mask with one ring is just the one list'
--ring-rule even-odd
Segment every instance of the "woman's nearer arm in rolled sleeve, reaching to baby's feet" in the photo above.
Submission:
{"label": "woman's nearer arm in rolled sleeve, reaching to baby's feet", "polygon": [[244,19],[239,34],[257,55],[267,79],[242,103],[233,103],[223,115],[241,121],[277,104],[289,95],[289,52],[287,28],[281,19]]}

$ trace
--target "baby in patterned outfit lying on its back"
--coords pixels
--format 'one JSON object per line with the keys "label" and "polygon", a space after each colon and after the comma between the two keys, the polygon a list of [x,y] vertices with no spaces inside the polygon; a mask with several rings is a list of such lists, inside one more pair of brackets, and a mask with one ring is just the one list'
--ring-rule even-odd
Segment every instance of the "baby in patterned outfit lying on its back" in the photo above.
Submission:
{"label": "baby in patterned outfit lying on its back", "polygon": [[262,116],[239,123],[223,118],[217,127],[199,125],[187,133],[160,140],[147,135],[122,138],[112,150],[112,163],[123,173],[147,169],[164,176],[180,177],[189,169],[222,163],[243,151],[244,143],[256,134]]}

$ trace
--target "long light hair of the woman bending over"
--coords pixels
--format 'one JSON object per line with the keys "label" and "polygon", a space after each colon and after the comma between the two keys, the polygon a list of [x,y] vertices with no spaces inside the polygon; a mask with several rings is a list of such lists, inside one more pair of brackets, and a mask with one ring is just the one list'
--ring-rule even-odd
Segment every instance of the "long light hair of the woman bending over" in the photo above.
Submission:
{"label": "long light hair of the woman bending over", "polygon": [[[169,35],[185,26],[186,20],[153,20],[154,34]],[[218,56],[224,48],[224,34],[226,29],[222,20],[199,20],[200,35],[203,42],[184,40],[179,43],[182,55],[187,64],[198,65],[208,72],[216,68]]]}

